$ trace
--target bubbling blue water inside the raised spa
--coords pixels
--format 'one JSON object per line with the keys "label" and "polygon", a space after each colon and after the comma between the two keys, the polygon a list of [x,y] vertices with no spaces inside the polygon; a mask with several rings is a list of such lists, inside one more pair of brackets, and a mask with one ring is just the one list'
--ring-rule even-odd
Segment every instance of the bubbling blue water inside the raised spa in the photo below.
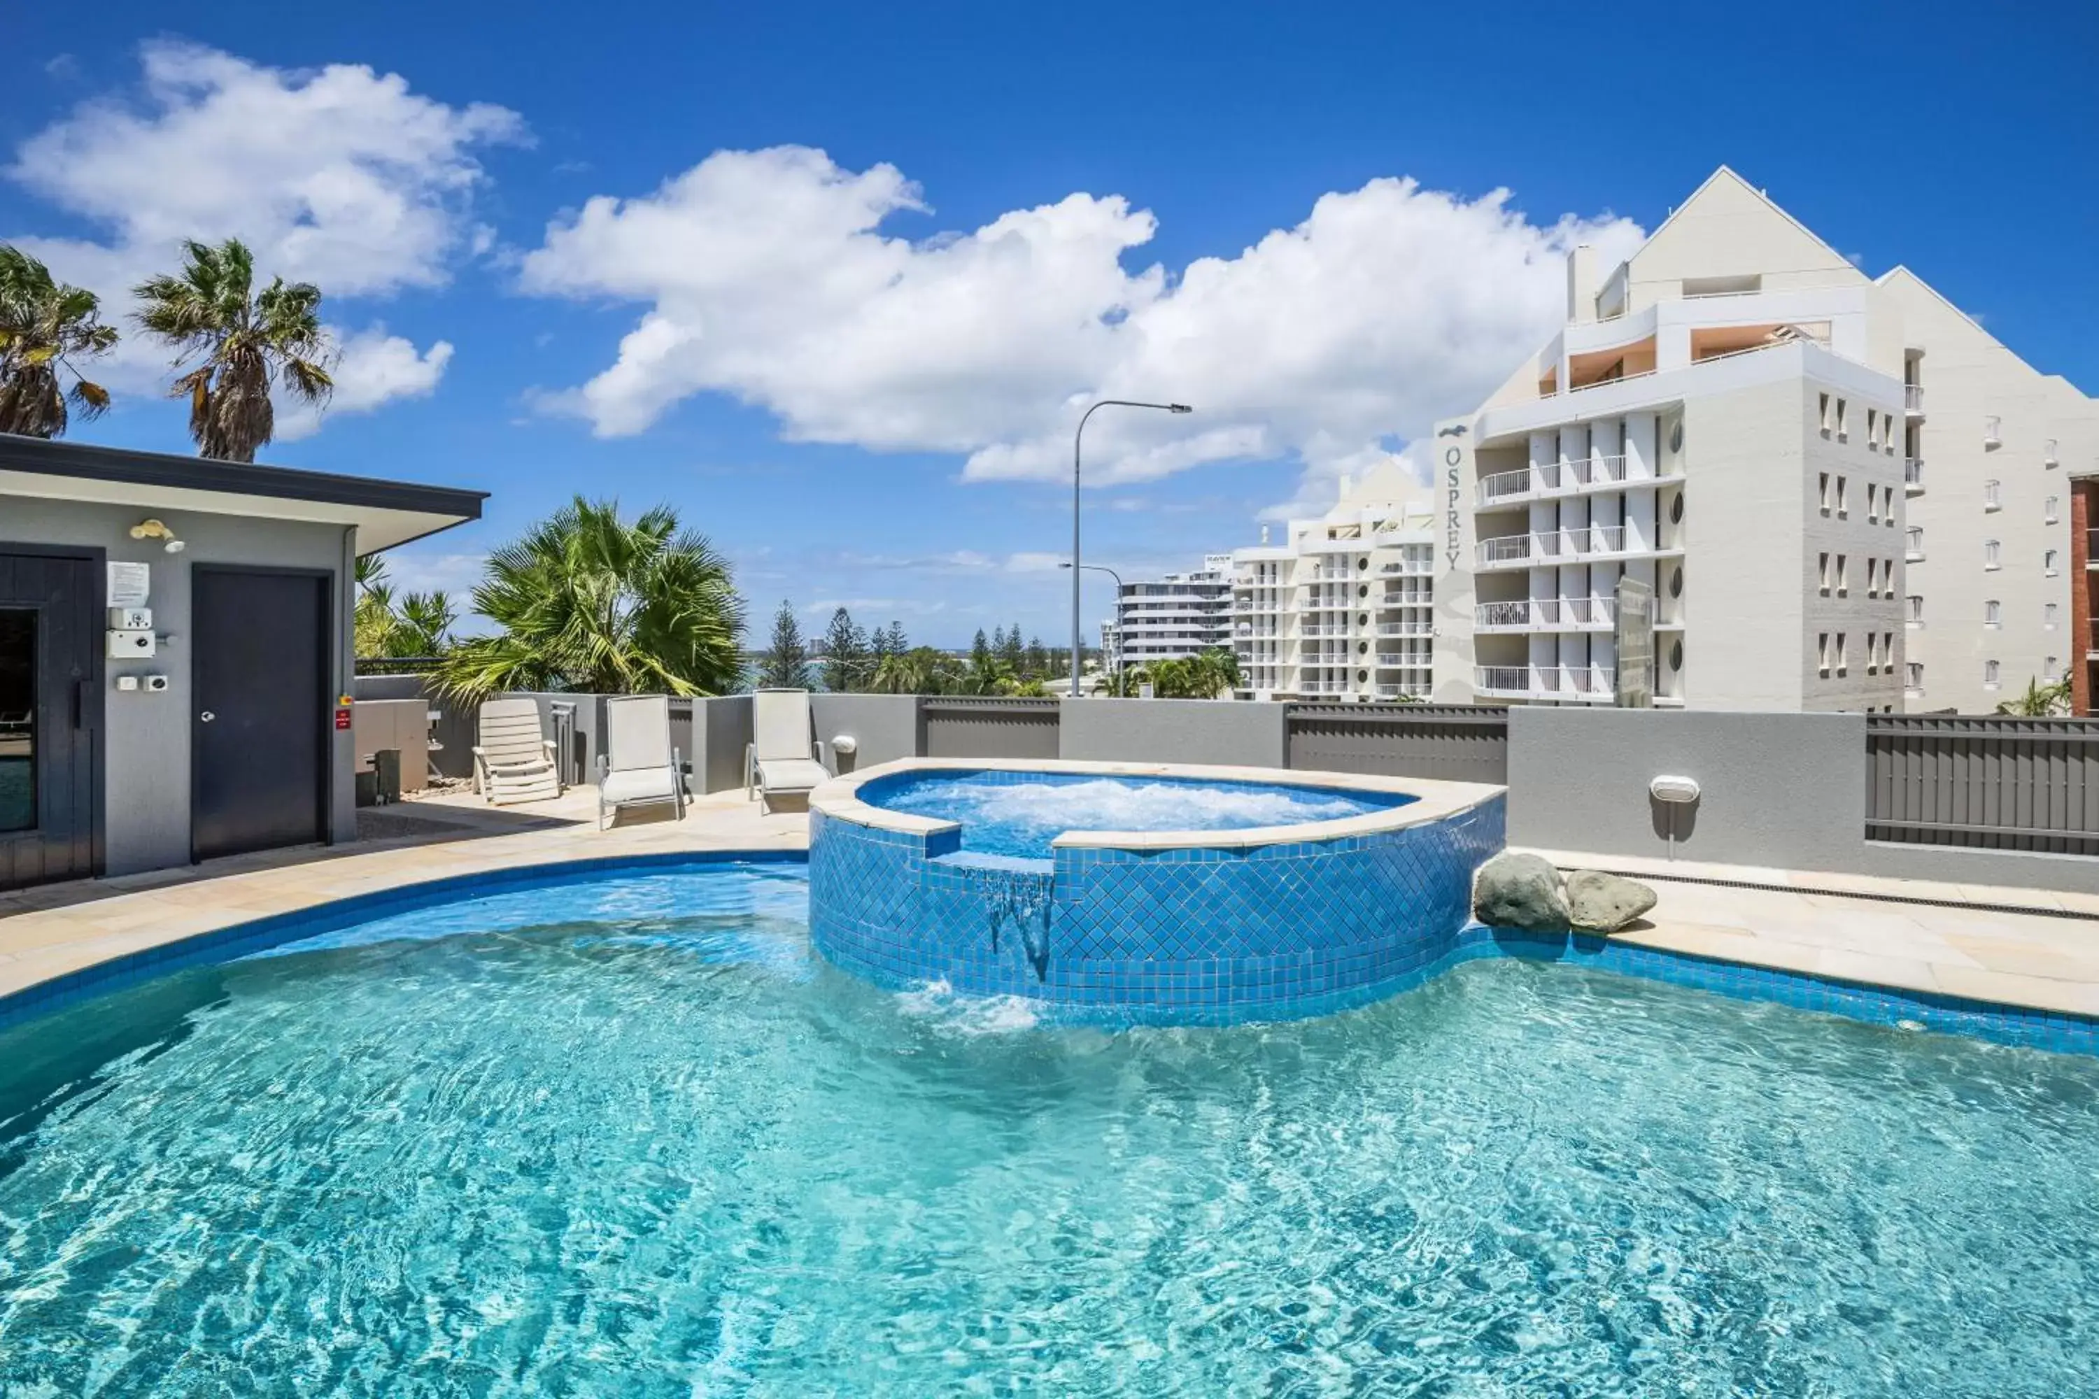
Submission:
{"label": "bubbling blue water inside the raised spa", "polygon": [[867,782],[861,801],[959,820],[963,849],[1043,860],[1066,831],[1251,831],[1390,812],[1413,797],[1201,778],[913,772]]}

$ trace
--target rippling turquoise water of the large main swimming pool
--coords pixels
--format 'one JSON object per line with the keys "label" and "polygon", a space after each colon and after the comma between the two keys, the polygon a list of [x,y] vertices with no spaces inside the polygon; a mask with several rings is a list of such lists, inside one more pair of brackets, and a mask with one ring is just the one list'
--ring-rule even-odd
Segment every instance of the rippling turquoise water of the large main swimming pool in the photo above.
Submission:
{"label": "rippling turquoise water of the large main swimming pool", "polygon": [[537,889],[0,1032],[0,1395],[2095,1393],[2099,1061],[1518,961],[1106,1034],[804,910]]}

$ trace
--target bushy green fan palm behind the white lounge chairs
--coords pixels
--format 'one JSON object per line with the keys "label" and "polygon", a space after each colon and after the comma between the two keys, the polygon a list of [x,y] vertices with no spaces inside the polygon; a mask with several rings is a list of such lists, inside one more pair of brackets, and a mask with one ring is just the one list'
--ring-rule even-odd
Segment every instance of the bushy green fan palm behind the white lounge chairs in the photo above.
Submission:
{"label": "bushy green fan palm behind the white lounge chairs", "polygon": [[670,505],[638,520],[581,495],[489,554],[474,610],[497,636],[453,646],[437,688],[728,694],[743,682],[743,600],[728,562]]}

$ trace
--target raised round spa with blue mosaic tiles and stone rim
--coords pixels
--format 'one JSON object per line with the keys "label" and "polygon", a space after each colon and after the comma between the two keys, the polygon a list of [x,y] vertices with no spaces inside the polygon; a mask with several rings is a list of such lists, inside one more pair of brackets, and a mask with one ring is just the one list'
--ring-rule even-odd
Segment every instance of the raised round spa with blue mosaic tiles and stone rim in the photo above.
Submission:
{"label": "raised round spa with blue mosaic tiles and stone rim", "polygon": [[810,799],[810,933],[882,986],[1322,1015],[1448,961],[1501,843],[1503,791],[1471,782],[909,759]]}

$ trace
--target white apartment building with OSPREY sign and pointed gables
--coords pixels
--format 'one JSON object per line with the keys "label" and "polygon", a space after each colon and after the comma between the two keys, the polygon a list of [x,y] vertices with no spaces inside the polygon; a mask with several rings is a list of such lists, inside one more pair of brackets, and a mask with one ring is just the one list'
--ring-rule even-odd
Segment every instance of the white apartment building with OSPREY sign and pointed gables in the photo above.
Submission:
{"label": "white apartment building with OSPREY sign and pointed gables", "polygon": [[2095,453],[2091,399],[1721,168],[1436,426],[1436,698],[1610,705],[1631,577],[1658,705],[1994,709],[2070,663]]}

